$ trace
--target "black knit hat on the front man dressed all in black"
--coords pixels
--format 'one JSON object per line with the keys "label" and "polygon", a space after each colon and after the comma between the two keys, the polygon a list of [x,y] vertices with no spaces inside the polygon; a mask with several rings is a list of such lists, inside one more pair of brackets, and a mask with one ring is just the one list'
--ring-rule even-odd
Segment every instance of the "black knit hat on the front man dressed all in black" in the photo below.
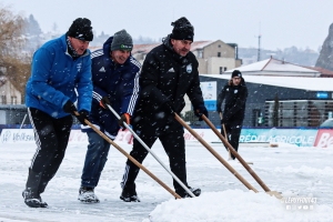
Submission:
{"label": "black knit hat on the front man dressed all in black", "polygon": [[194,28],[185,17],[171,22],[171,26],[173,26],[171,39],[193,41]]}

